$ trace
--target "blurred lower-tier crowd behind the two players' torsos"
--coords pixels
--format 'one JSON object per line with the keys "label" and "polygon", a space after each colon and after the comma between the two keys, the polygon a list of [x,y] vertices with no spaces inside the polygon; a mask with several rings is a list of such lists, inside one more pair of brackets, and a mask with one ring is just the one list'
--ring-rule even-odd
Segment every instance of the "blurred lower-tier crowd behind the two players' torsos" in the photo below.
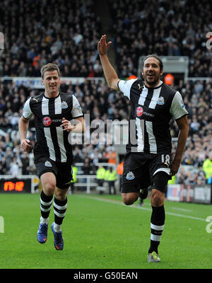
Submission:
{"label": "blurred lower-tier crowd behind the two players' torsos", "polygon": [[[182,93],[185,107],[189,112],[189,138],[183,154],[182,165],[202,168],[208,154],[212,152],[212,81],[187,81],[187,83],[181,81],[179,86],[173,87]],[[85,80],[84,83],[76,85],[62,84],[61,91],[76,96],[81,103],[83,113],[89,117],[86,119],[85,138],[91,142],[85,144],[83,139],[82,143],[78,141],[73,143],[74,163],[82,163],[82,173],[86,174],[94,174],[98,163],[117,164],[112,139],[99,139],[99,142],[95,143],[90,137],[97,129],[96,125],[99,122],[104,125],[106,133],[108,120],[126,120],[129,115],[129,100],[126,100],[122,93],[112,91],[102,81],[95,83],[93,80]],[[35,96],[35,94],[35,90],[25,86],[16,86],[14,83],[0,81],[1,174],[16,172],[15,167],[17,166],[13,163],[18,164],[19,173],[35,173],[33,154],[28,156],[20,151],[18,138],[18,120],[22,115],[23,103],[28,97]],[[35,143],[34,127],[35,120],[32,118],[29,139],[33,143]],[[175,153],[178,128],[174,120],[172,120],[170,128],[174,138],[172,151]],[[202,178],[203,176],[204,174]],[[206,178],[204,178],[205,180]]]}

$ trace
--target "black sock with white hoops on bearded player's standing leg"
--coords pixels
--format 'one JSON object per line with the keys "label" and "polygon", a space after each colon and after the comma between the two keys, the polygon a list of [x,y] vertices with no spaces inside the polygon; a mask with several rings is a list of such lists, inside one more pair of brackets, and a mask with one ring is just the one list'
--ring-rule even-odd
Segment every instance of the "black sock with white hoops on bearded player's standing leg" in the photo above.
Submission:
{"label": "black sock with white hoops on bearded player's standing leg", "polygon": [[158,253],[158,246],[160,244],[160,238],[163,233],[163,228],[165,224],[165,209],[164,205],[161,207],[153,207],[151,215],[151,246],[148,253]]}

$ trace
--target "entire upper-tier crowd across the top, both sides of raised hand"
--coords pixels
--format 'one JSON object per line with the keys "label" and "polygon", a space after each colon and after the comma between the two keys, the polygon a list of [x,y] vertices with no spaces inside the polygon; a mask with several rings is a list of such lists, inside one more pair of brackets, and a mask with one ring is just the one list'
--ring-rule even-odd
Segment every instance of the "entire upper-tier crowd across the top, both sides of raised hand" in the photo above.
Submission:
{"label": "entire upper-tier crowd across the top, both sides of raised hand", "polygon": [[[119,77],[137,74],[138,58],[153,52],[188,56],[190,77],[211,76],[211,49],[206,48],[212,30],[210,0],[107,3]],[[96,48],[102,23],[95,11],[94,0],[1,1],[5,47],[0,75],[40,76],[40,67],[54,62],[62,76],[102,76]]]}

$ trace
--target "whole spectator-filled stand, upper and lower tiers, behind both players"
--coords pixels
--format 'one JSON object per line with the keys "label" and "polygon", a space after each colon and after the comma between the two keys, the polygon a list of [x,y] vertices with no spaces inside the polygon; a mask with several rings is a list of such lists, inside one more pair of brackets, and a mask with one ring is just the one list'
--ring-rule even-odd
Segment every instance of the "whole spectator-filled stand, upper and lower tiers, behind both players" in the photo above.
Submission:
{"label": "whole spectator-filled stand, upper and lower tiers, behind both players", "polygon": [[[51,2],[51,9],[49,9]],[[151,52],[159,55],[189,56],[189,76],[207,79],[179,80],[173,87],[182,93],[189,111],[189,139],[182,159],[183,166],[198,169],[192,174],[179,171],[177,180],[206,183],[203,163],[212,151],[212,74],[211,50],[206,48],[206,33],[212,30],[211,1],[107,1],[112,26],[108,33],[114,42],[119,76],[137,74],[138,58]],[[52,21],[54,14],[54,21]],[[40,76],[40,67],[54,62],[61,76],[90,78],[83,83],[62,84],[61,91],[72,93],[81,103],[90,121],[128,118],[129,100],[111,91],[95,77],[102,76],[97,43],[101,35],[100,17],[95,1],[2,1],[0,31],[5,47],[0,52],[0,175],[18,172],[35,174],[33,154],[20,151],[18,119],[29,96],[38,90],[17,85],[5,76]],[[180,32],[179,32],[180,30]],[[92,79],[93,78],[93,79]],[[30,121],[30,140],[35,142],[34,120]],[[176,123],[171,123],[177,139]],[[90,137],[90,125],[86,135]],[[175,151],[176,143],[173,144]],[[107,163],[112,145],[82,144],[73,146],[74,163],[90,164],[95,173],[98,163]],[[186,168],[186,167],[185,167]],[[87,172],[88,173],[88,172]]]}

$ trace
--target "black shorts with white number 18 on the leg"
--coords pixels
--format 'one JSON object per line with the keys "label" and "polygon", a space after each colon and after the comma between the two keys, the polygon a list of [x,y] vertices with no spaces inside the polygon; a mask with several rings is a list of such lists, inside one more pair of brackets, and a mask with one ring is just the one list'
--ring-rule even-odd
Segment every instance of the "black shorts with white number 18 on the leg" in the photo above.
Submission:
{"label": "black shorts with white number 18 on the leg", "polygon": [[[153,185],[153,176],[158,172],[170,176],[171,154],[144,154],[128,152],[124,156],[122,192],[140,192]],[[164,187],[164,192],[166,187]]]}

